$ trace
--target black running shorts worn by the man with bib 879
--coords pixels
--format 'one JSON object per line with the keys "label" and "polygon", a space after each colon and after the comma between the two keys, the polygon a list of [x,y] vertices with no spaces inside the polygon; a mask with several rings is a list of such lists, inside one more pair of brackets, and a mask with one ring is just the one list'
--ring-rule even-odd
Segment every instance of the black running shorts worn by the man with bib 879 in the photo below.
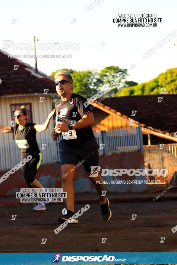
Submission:
{"label": "black running shorts worn by the man with bib 879", "polygon": [[[63,140],[61,140],[59,147],[61,166],[65,164],[77,165],[78,162],[81,161],[85,170],[88,172],[91,172],[91,166],[98,166],[99,145],[96,142],[95,136],[79,147],[69,147]],[[83,159],[85,159],[85,161],[82,161]]]}

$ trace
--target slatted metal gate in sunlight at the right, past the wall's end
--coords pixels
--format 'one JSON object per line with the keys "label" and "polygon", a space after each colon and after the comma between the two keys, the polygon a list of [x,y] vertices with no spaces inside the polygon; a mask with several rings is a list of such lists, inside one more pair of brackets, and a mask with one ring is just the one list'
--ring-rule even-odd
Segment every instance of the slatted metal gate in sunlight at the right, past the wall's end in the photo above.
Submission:
{"label": "slatted metal gate in sunlight at the right, past the wall's end", "polygon": [[[147,183],[147,191],[162,190],[169,185],[177,186],[177,144],[144,146],[144,166],[146,170],[150,168],[152,168],[152,171],[155,168],[168,170],[168,173],[164,176],[146,175],[146,179],[150,180],[150,183]],[[160,183],[153,183],[157,180]]]}

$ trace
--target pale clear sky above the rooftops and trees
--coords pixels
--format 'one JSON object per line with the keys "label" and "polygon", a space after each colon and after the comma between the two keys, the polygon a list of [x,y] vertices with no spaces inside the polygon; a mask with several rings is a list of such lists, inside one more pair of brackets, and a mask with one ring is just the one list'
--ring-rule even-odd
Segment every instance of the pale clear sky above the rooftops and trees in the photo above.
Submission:
{"label": "pale clear sky above the rooftops and trees", "polygon": [[[80,49],[46,51],[37,55],[72,54],[73,58],[38,59],[38,69],[46,74],[61,68],[75,70],[98,69],[115,65],[128,69],[128,80],[148,81],[166,69],[177,66],[177,36],[156,50],[145,61],[142,55],[177,30],[177,2],[174,0],[103,0],[87,12],[92,0],[31,0],[1,2],[0,48],[3,40],[13,43],[80,43]],[[112,19],[118,14],[156,13],[162,18],[157,27],[118,27]],[[16,18],[16,23],[11,23]],[[71,23],[75,18],[76,22]],[[101,46],[101,41],[106,46]],[[175,44],[175,45],[174,45]],[[12,55],[34,54],[34,51],[8,51]],[[35,66],[34,59],[21,59]],[[131,64],[136,64],[134,70]]]}

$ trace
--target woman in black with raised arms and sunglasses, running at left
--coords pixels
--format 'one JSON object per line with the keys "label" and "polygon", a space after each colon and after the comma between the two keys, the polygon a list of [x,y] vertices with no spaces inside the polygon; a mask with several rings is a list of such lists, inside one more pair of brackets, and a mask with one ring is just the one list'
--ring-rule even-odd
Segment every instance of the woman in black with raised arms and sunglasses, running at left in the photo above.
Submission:
{"label": "woman in black with raised arms and sunglasses, running at left", "polygon": [[[43,188],[40,182],[35,179],[36,173],[40,168],[42,162],[42,154],[36,141],[36,132],[40,133],[47,129],[50,119],[55,113],[55,109],[50,112],[44,124],[28,123],[27,110],[25,106],[17,109],[14,113],[16,126],[2,126],[0,124],[0,131],[3,133],[14,133],[15,142],[21,151],[21,161],[29,155],[32,159],[21,167],[22,174],[26,180],[28,188]],[[46,210],[44,202],[36,203],[33,210]]]}

